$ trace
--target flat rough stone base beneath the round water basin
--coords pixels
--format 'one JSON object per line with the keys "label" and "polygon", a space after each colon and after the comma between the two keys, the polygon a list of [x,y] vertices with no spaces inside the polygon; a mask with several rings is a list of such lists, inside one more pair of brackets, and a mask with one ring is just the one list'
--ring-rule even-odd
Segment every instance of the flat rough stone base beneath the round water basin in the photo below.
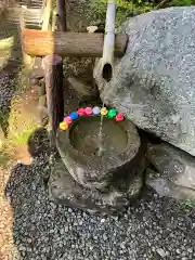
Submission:
{"label": "flat rough stone base beneath the round water basin", "polygon": [[139,196],[141,188],[142,173],[131,177],[129,183],[113,179],[104,192],[83,187],[72,178],[63,161],[56,162],[49,180],[51,200],[90,212],[122,212]]}

